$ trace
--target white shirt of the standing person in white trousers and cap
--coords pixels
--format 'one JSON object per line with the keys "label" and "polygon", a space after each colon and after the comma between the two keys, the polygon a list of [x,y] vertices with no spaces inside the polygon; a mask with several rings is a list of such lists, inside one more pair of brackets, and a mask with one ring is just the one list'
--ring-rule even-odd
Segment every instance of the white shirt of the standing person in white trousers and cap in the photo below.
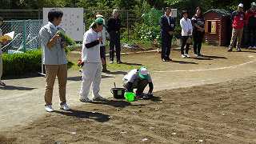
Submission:
{"label": "white shirt of the standing person in white trousers and cap", "polygon": [[86,31],[82,42],[82,62],[99,63],[102,62],[100,58],[100,45],[86,48],[86,44],[94,42],[98,39],[98,34],[92,28]]}

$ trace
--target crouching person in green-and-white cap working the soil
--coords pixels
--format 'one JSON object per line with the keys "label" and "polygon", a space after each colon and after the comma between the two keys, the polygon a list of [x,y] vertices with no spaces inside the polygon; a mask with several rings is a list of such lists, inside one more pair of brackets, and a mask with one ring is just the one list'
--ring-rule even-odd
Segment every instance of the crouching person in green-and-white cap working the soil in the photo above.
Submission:
{"label": "crouching person in green-and-white cap working the soil", "polygon": [[[143,96],[152,97],[153,94],[153,82],[152,78],[149,74],[149,71],[146,67],[142,66],[140,69],[130,70],[128,74],[124,78],[122,78],[123,86],[126,88],[127,92],[133,92],[134,89],[136,90],[136,97],[137,98],[144,98]],[[146,86],[150,86],[150,90],[148,94],[143,95],[143,91],[145,90]]]}

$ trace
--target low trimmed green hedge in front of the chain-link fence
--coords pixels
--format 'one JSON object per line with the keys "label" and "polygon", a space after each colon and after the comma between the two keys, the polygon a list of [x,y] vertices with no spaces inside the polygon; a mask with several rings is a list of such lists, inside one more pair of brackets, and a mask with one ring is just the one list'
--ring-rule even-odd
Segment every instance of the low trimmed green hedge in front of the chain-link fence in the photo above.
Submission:
{"label": "low trimmed green hedge in front of the chain-link fence", "polygon": [[34,50],[23,54],[3,54],[3,76],[33,73],[41,70],[42,51]]}

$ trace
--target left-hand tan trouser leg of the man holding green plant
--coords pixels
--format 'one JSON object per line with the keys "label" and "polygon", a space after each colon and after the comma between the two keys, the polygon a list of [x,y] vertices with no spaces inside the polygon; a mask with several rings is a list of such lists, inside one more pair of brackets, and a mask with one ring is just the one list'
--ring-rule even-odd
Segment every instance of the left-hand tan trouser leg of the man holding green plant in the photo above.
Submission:
{"label": "left-hand tan trouser leg of the man holding green plant", "polygon": [[52,104],[54,82],[58,73],[57,65],[45,65],[46,66],[46,93],[45,102],[46,106]]}

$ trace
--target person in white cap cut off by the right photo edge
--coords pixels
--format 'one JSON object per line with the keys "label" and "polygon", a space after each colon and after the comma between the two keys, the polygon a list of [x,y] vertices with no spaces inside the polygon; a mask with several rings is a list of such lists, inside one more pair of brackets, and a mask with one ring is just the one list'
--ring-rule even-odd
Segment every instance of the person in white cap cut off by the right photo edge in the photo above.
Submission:
{"label": "person in white cap cut off by the right photo edge", "polygon": [[250,49],[256,49],[256,3],[251,3],[251,8],[246,11],[246,26],[250,34]]}

